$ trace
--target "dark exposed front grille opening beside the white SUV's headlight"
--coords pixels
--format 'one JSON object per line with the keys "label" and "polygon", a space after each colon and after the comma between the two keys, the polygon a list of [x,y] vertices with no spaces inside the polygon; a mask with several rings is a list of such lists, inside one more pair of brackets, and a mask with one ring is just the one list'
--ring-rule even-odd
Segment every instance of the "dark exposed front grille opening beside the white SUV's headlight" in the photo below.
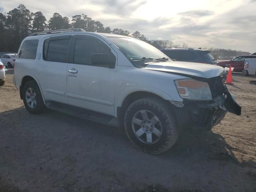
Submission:
{"label": "dark exposed front grille opening beside the white SUV's headlight", "polygon": [[212,98],[225,93],[225,84],[221,76],[210,78],[207,80],[207,82],[212,92]]}

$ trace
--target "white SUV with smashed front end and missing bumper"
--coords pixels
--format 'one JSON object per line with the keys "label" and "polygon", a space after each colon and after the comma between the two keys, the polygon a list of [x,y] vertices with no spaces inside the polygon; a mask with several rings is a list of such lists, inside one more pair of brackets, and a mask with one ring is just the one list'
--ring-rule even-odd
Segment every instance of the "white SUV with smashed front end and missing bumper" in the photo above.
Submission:
{"label": "white SUV with smashed front end and missing bumper", "polygon": [[46,108],[124,128],[159,154],[182,130],[211,130],[240,115],[220,66],[176,62],[141,40],[80,29],[31,34],[15,62],[14,84],[28,112]]}

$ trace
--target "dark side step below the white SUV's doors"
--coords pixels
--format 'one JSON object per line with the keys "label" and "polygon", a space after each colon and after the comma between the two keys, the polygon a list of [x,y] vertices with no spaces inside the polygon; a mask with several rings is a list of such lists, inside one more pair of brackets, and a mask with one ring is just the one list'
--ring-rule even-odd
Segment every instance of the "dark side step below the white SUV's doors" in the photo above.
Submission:
{"label": "dark side step below the white SUV's doors", "polygon": [[83,108],[74,107],[74,106],[70,106],[70,105],[62,104],[58,102],[48,102],[46,103],[46,107],[52,110],[56,110],[58,112],[80,117],[93,122],[105,124],[108,126],[118,127],[118,120],[116,118],[109,115],[102,114],[102,113],[98,113],[91,110],[86,110]]}

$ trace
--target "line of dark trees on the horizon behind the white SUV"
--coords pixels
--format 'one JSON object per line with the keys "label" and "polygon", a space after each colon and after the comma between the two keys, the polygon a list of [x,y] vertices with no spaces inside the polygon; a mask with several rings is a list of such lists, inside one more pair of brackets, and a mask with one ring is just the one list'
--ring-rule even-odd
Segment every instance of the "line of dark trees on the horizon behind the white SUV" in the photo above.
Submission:
{"label": "line of dark trees on the horizon behind the white SUV", "polygon": [[[41,11],[33,13],[30,12],[24,4],[20,4],[17,8],[10,10],[6,14],[3,14],[2,10],[0,10],[0,52],[17,52],[22,40],[30,33],[69,28],[82,28],[88,32],[103,32],[132,36],[148,42],[158,49],[188,47],[188,44],[186,43],[181,45],[174,44],[174,42],[170,40],[149,40],[144,34],[141,34],[138,31],[131,33],[128,30],[120,28],[114,28],[112,30],[109,26],[105,27],[101,22],[94,21],[86,14],[74,15],[70,21],[68,17],[62,16],[59,13],[54,13],[47,21]],[[218,53],[218,55],[231,54],[232,56],[236,56],[240,53],[236,50],[214,50],[213,48],[212,51]]]}

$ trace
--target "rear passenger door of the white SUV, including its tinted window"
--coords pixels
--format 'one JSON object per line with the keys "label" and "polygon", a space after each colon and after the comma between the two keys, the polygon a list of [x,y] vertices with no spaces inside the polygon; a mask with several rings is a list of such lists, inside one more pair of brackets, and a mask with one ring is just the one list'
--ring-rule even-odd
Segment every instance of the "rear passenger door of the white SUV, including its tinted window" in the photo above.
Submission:
{"label": "rear passenger door of the white SUV, including its tinted window", "polygon": [[72,35],[61,35],[43,40],[38,76],[44,98],[66,104],[67,66]]}

